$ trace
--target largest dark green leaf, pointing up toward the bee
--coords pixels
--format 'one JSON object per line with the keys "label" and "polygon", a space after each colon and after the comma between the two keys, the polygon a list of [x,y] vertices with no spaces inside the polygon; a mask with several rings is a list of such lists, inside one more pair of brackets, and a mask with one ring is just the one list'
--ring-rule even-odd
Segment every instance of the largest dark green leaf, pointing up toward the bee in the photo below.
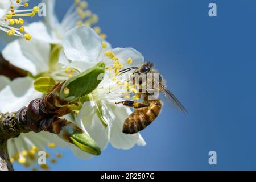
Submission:
{"label": "largest dark green leaf, pointing up toward the bee", "polygon": [[61,87],[60,97],[71,102],[91,93],[101,80],[98,75],[105,72],[105,64],[100,62],[95,67],[67,80]]}

